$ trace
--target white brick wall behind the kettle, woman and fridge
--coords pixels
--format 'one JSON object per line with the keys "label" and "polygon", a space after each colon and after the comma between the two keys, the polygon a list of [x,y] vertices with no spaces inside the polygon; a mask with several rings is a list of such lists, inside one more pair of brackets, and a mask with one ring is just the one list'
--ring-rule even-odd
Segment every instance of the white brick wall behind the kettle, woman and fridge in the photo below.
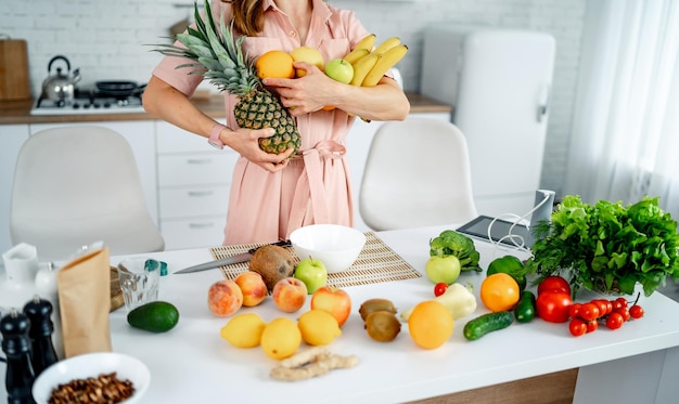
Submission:
{"label": "white brick wall behind the kettle, woman and fridge", "polygon": [[[146,82],[159,55],[150,47],[191,16],[191,0],[3,1],[0,34],[28,41],[34,96],[50,58],[63,54],[80,68],[82,84],[95,80]],[[418,91],[423,29],[430,24],[473,24],[549,32],[556,39],[556,68],[542,187],[560,193],[571,131],[586,0],[331,0],[356,11],[377,38],[399,36],[410,48],[400,62],[406,90]]]}

